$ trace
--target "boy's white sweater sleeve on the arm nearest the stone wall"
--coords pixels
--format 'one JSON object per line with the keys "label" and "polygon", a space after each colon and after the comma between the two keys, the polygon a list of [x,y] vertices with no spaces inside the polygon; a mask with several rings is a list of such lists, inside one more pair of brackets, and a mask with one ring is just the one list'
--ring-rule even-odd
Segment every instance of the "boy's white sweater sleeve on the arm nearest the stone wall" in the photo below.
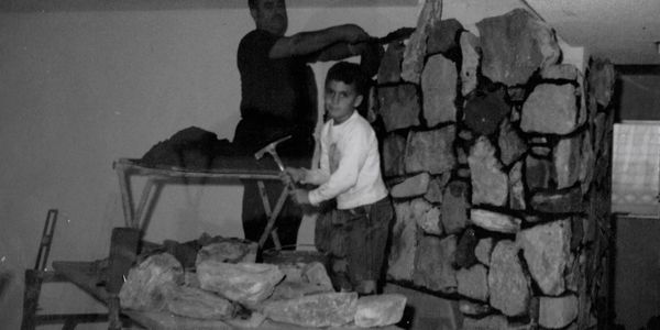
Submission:
{"label": "boy's white sweater sleeve on the arm nearest the stone wall", "polygon": [[[339,166],[334,173],[330,174],[324,184],[309,191],[308,197],[311,205],[332,199],[358,183],[358,174],[369,154],[367,136],[362,130],[351,130],[344,132],[342,138],[337,145],[337,150],[341,154]],[[323,150],[321,169],[329,168],[328,145],[321,145],[321,147]]]}

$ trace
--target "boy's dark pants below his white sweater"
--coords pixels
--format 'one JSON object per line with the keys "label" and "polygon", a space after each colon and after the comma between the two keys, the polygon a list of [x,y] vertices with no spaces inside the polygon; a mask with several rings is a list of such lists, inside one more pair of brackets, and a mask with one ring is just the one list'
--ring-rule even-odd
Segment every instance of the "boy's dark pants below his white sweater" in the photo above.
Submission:
{"label": "boy's dark pants below his white sweater", "polygon": [[[316,244],[319,251],[328,252],[331,256],[333,266],[330,273],[337,279],[336,286],[350,289],[359,287],[364,280],[380,282],[393,216],[389,197],[385,197],[349,210],[334,209],[319,218]],[[336,266],[338,261],[340,264],[345,262],[345,275],[352,287],[341,283],[344,274]]]}

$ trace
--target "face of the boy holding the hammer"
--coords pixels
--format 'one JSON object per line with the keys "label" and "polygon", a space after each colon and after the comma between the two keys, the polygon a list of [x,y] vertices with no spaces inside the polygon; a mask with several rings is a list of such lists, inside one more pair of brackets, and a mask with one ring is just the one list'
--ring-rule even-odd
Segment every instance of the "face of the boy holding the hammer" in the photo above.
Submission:
{"label": "face of the boy holding the hammer", "polygon": [[323,101],[326,113],[339,124],[353,114],[355,108],[362,102],[362,96],[358,95],[355,84],[346,85],[342,81],[329,80],[326,82]]}

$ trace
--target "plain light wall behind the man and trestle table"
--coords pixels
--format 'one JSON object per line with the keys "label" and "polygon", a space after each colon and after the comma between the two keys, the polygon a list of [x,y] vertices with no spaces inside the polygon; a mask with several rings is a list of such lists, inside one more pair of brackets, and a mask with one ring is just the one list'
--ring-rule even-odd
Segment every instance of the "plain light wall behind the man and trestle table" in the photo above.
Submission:
{"label": "plain light wall behind the man and trestle table", "polygon": [[[416,3],[296,7],[289,32],[356,22],[384,35],[414,26],[418,12]],[[103,258],[111,229],[123,226],[116,158],[140,157],[190,125],[232,138],[235,51],[252,29],[240,6],[0,12],[0,272],[11,276],[0,328],[19,328],[23,271],[50,208],[61,211],[51,261]],[[327,67],[316,65],[317,79]],[[242,235],[241,194],[239,185],[166,186],[147,239]],[[66,285],[41,301],[44,312],[102,310]]]}

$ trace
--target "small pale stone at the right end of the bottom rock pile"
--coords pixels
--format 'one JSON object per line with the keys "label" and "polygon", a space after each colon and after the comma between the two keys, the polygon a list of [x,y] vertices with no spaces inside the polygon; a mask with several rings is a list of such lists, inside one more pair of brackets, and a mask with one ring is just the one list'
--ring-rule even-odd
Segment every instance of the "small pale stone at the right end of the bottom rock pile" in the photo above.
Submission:
{"label": "small pale stone at the right end of the bottom rock pile", "polygon": [[404,316],[406,296],[385,294],[358,299],[355,326],[360,328],[384,327],[398,322]]}

